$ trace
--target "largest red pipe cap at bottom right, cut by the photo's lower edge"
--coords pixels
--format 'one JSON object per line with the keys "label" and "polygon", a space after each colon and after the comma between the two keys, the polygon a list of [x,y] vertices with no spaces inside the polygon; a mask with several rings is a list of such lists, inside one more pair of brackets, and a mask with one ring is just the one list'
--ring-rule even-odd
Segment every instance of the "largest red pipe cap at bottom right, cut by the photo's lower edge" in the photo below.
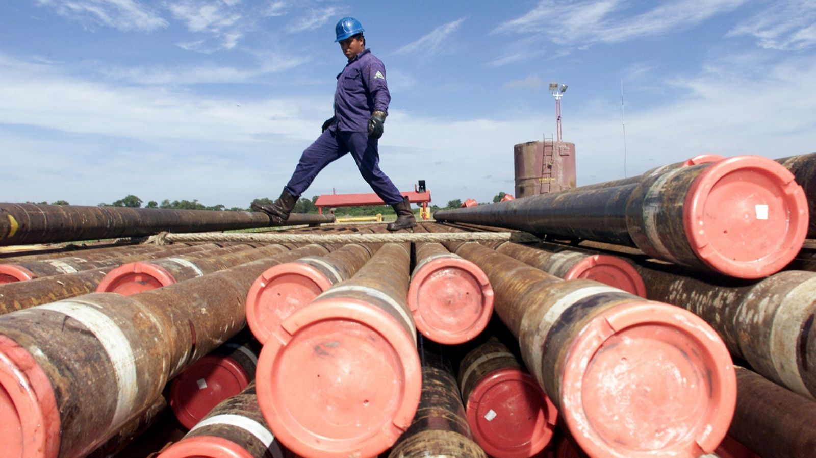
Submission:
{"label": "largest red pipe cap at bottom right, cut by the photo's lower edge", "polygon": [[566,353],[561,414],[589,456],[697,458],[734,416],[737,383],[716,332],[674,305],[614,305]]}

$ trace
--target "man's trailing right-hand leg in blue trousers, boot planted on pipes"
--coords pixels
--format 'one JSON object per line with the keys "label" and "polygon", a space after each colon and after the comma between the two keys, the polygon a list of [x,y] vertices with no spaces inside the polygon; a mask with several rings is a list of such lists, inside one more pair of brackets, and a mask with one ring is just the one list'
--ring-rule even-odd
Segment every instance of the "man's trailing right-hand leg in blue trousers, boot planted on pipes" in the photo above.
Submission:
{"label": "man's trailing right-hand leg in blue trousers, boot planted on pipes", "polygon": [[374,192],[397,212],[397,220],[388,223],[388,230],[410,229],[416,225],[414,212],[408,198],[403,198],[385,173],[379,169],[378,140],[368,138],[366,132],[343,132],[344,141],[351,151],[354,162]]}

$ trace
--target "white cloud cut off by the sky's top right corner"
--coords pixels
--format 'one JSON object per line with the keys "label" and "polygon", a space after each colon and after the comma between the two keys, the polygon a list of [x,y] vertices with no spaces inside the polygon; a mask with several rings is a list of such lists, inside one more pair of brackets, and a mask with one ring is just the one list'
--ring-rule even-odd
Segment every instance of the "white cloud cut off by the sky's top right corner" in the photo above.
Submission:
{"label": "white cloud cut off by the sky's top right corner", "polygon": [[729,36],[750,35],[765,49],[799,51],[816,45],[813,0],[774,2],[731,29]]}

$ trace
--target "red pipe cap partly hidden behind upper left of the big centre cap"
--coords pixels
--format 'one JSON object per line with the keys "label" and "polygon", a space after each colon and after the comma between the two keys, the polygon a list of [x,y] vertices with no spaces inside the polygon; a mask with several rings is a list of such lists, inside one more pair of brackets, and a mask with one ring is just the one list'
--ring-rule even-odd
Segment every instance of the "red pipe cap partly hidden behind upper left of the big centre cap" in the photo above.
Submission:
{"label": "red pipe cap partly hidden behind upper left of the big centre cap", "polygon": [[312,302],[332,282],[320,270],[302,262],[287,262],[266,269],[246,294],[246,322],[263,344],[282,334],[281,323],[295,310]]}

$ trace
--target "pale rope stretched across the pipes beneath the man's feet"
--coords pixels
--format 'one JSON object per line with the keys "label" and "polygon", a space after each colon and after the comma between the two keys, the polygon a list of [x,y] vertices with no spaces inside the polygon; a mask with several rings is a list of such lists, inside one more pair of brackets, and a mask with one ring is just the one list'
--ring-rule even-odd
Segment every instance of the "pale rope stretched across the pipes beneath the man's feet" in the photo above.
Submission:
{"label": "pale rope stretched across the pipes beneath the man's feet", "polygon": [[388,243],[388,242],[540,242],[526,232],[453,233],[157,233],[148,243],[259,242],[259,243]]}

